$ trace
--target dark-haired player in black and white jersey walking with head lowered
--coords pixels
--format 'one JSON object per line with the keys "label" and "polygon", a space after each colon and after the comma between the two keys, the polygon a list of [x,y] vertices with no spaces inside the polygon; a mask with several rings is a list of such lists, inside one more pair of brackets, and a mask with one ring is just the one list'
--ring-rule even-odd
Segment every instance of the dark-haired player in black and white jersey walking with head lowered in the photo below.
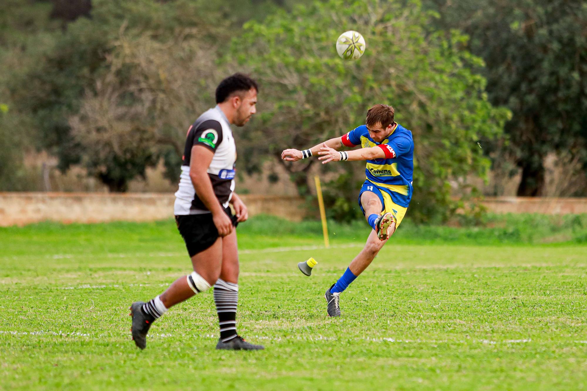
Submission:
{"label": "dark-haired player in black and white jersey walking with head lowered", "polygon": [[[231,124],[244,126],[255,114],[257,83],[235,73],[216,89],[217,106],[202,114],[188,129],[174,214],[190,254],[193,272],[178,278],[163,294],[131,307],[132,335],[144,349],[151,324],[168,308],[214,285],[220,323],[216,349],[259,350],[237,334],[238,223],[247,220],[247,207],[234,193],[237,149]],[[234,208],[232,215],[229,205]]]}

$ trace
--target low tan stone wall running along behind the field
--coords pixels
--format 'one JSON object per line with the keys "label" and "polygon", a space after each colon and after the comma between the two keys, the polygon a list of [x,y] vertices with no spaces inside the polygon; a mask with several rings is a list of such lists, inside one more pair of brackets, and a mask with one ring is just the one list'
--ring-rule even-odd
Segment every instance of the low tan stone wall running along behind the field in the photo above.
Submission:
{"label": "low tan stone wall running along behind the field", "polygon": [[[302,197],[241,195],[249,215],[266,213],[300,221],[318,211],[306,211]],[[97,223],[151,221],[171,218],[173,193],[0,193],[0,226],[38,221]],[[587,198],[487,197],[482,201],[494,213],[587,213]]]}

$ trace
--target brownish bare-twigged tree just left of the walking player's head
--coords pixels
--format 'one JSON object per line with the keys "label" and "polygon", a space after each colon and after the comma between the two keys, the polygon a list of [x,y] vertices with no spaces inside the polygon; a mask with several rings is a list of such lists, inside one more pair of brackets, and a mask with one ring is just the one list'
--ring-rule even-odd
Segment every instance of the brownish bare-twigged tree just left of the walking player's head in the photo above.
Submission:
{"label": "brownish bare-twigged tree just left of the walking player's head", "polygon": [[146,168],[160,159],[166,177],[177,181],[185,131],[213,106],[218,79],[214,48],[199,36],[197,29],[180,29],[158,42],[122,31],[104,66],[107,72],[70,117],[80,162],[110,191],[126,191],[131,179],[144,178]]}

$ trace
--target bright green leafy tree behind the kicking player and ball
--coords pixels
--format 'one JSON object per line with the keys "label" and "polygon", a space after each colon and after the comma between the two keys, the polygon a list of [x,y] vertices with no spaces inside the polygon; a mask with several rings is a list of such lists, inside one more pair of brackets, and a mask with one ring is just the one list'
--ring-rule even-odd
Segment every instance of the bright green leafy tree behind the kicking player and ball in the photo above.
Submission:
{"label": "bright green leafy tree behind the kicking player and ball", "polygon": [[[365,123],[370,106],[390,103],[416,145],[410,215],[420,221],[447,218],[457,209],[451,180],[485,176],[490,162],[477,142],[499,136],[508,112],[488,103],[485,79],[470,71],[483,62],[463,49],[466,37],[454,32],[446,39],[430,30],[433,18],[417,1],[332,0],[247,23],[230,58],[261,82],[261,123],[242,136],[251,145],[247,166],[259,167],[259,160],[278,157],[288,147],[305,149],[340,136]],[[355,62],[335,51],[336,38],[348,29],[367,42],[365,55]],[[276,164],[295,174],[315,161]],[[350,176],[360,168],[357,163],[335,169]],[[348,183],[330,183],[335,186],[330,194],[338,192],[343,200],[329,197],[329,207],[355,207],[356,190],[343,193]]]}

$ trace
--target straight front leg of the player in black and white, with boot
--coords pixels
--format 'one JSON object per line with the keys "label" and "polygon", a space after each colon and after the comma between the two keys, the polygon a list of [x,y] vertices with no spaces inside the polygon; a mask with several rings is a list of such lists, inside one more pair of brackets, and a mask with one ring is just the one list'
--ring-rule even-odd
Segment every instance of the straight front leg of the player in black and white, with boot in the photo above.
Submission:
{"label": "straight front leg of the player in black and white, with boot", "polygon": [[222,267],[220,278],[214,284],[214,302],[220,325],[220,339],[216,349],[264,349],[261,345],[245,342],[237,334],[238,270],[237,232],[232,231],[222,239]]}

